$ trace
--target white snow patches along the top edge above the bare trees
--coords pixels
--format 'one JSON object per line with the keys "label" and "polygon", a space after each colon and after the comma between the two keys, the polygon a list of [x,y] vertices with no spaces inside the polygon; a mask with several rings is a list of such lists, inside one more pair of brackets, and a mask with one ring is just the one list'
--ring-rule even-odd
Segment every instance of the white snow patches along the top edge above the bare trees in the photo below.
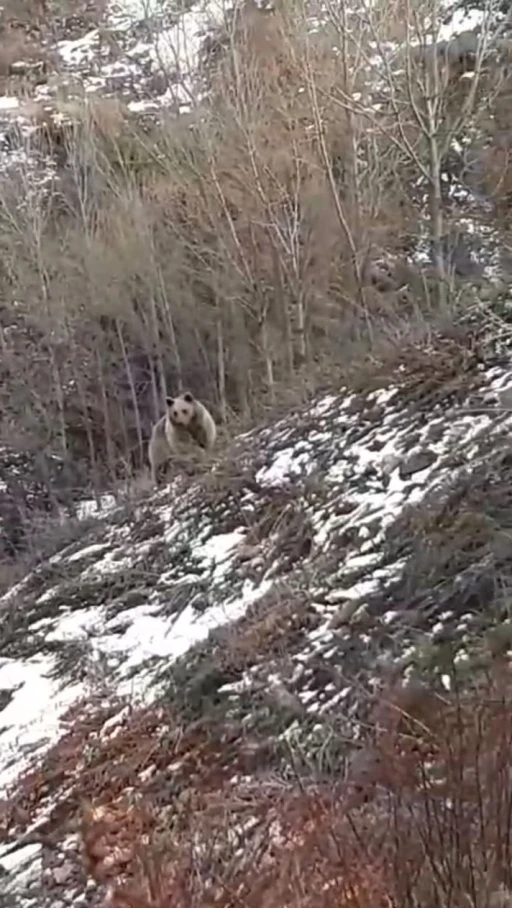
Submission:
{"label": "white snow patches along the top edge above the bare trees", "polygon": [[[445,8],[453,5],[449,0]],[[85,93],[90,97],[119,97],[137,113],[165,107],[187,111],[200,100],[196,75],[204,41],[228,25],[234,6],[233,0],[190,0],[183,4],[112,0],[105,20],[96,27],[79,37],[57,41],[58,78],[38,84],[32,100],[44,103],[63,92],[68,98]],[[305,4],[303,12],[311,28],[317,30],[322,22],[331,21],[333,11],[329,4],[325,8],[312,5],[309,11]],[[360,15],[371,14],[371,4],[368,9],[363,4]],[[476,28],[482,18],[482,12],[456,10],[454,15],[440,18],[438,40]],[[23,127],[33,107],[26,104],[24,94],[4,96],[0,97],[0,112],[8,115],[6,122]]]}

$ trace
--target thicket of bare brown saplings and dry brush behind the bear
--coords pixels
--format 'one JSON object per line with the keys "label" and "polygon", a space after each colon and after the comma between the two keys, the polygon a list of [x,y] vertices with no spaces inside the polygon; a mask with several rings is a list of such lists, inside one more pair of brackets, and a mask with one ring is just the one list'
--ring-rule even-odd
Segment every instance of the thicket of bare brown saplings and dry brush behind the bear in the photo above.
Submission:
{"label": "thicket of bare brown saplings and dry brush behind the bear", "polygon": [[[443,251],[459,212],[428,186],[449,136],[489,128],[491,75],[477,68],[471,89],[453,75],[456,102],[441,80],[434,149],[415,125],[424,61],[413,104],[382,56],[397,10],[333,53],[341,15],[312,35],[300,3],[247,6],[205,58],[200,115],[141,123],[100,98],[27,111],[41,167],[6,185],[0,220],[4,438],[87,465],[98,487],[143,463],[165,390],[190,388],[229,436],[367,357],[371,372],[428,344],[473,299]],[[500,78],[487,97],[503,118]],[[413,265],[434,226],[435,262]]]}

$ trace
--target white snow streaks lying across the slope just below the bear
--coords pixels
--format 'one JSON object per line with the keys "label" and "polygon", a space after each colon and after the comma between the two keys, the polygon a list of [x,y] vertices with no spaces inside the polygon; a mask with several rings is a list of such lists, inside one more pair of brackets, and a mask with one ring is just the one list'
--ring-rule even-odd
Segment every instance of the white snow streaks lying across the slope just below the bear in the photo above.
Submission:
{"label": "white snow streaks lying across the slope just below the bear", "polygon": [[[321,722],[342,704],[350,712],[361,666],[370,687],[382,665],[401,667],[407,677],[418,631],[404,630],[398,602],[385,603],[416,543],[406,540],[393,560],[388,543],[408,509],[432,496],[442,501],[490,451],[498,457],[507,450],[512,413],[501,406],[500,391],[510,384],[508,365],[482,372],[479,383],[483,390],[466,400],[433,409],[418,407],[399,385],[329,395],[240,439],[246,478],[236,491],[226,486],[209,499],[206,480],[198,480],[181,491],[178,482],[130,514],[107,503],[82,542],[0,600],[0,786],[58,740],[66,710],[94,687],[94,665],[103,666],[118,697],[150,702],[162,670],[167,676],[212,631],[241,626],[251,614],[257,620],[252,607],[283,582],[290,590],[301,586],[311,622],[287,654],[284,674],[282,660],[262,651],[219,696],[234,703],[244,691],[281,684]],[[276,502],[275,519],[255,543],[254,527]],[[307,545],[291,555],[286,515],[299,515],[308,528]],[[376,595],[384,605],[369,628],[360,618]],[[480,621],[479,614],[446,609],[440,597],[422,626],[422,645],[425,635],[435,640],[451,629],[463,653]],[[70,646],[78,657],[63,667]],[[77,678],[81,656],[89,669]],[[319,658],[340,666],[338,683],[312,685]],[[37,851],[32,856],[39,859]]]}

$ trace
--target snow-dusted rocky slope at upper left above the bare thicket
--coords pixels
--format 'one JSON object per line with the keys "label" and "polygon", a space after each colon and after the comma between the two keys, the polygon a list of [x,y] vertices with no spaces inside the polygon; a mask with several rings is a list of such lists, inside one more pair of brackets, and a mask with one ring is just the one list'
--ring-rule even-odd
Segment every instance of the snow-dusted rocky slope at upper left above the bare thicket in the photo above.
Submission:
{"label": "snow-dusted rocky slope at upper left above the bare thicket", "polygon": [[204,41],[227,15],[215,2],[45,6],[0,10],[0,166],[31,181],[55,176],[39,146],[55,144],[87,101],[97,102],[107,129],[125,113],[186,113]]}

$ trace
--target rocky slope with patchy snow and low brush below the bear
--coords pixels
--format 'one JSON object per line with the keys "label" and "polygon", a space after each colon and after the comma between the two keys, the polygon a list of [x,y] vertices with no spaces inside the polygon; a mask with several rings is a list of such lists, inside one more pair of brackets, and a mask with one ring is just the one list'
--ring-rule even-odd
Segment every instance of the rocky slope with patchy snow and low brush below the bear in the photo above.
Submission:
{"label": "rocky slope with patchy snow and low brush below the bear", "polygon": [[332,778],[390,679],[448,690],[507,652],[509,359],[442,340],[363,384],[103,512],[3,597],[0,904],[99,903],[84,803],[168,817],[226,780]]}

